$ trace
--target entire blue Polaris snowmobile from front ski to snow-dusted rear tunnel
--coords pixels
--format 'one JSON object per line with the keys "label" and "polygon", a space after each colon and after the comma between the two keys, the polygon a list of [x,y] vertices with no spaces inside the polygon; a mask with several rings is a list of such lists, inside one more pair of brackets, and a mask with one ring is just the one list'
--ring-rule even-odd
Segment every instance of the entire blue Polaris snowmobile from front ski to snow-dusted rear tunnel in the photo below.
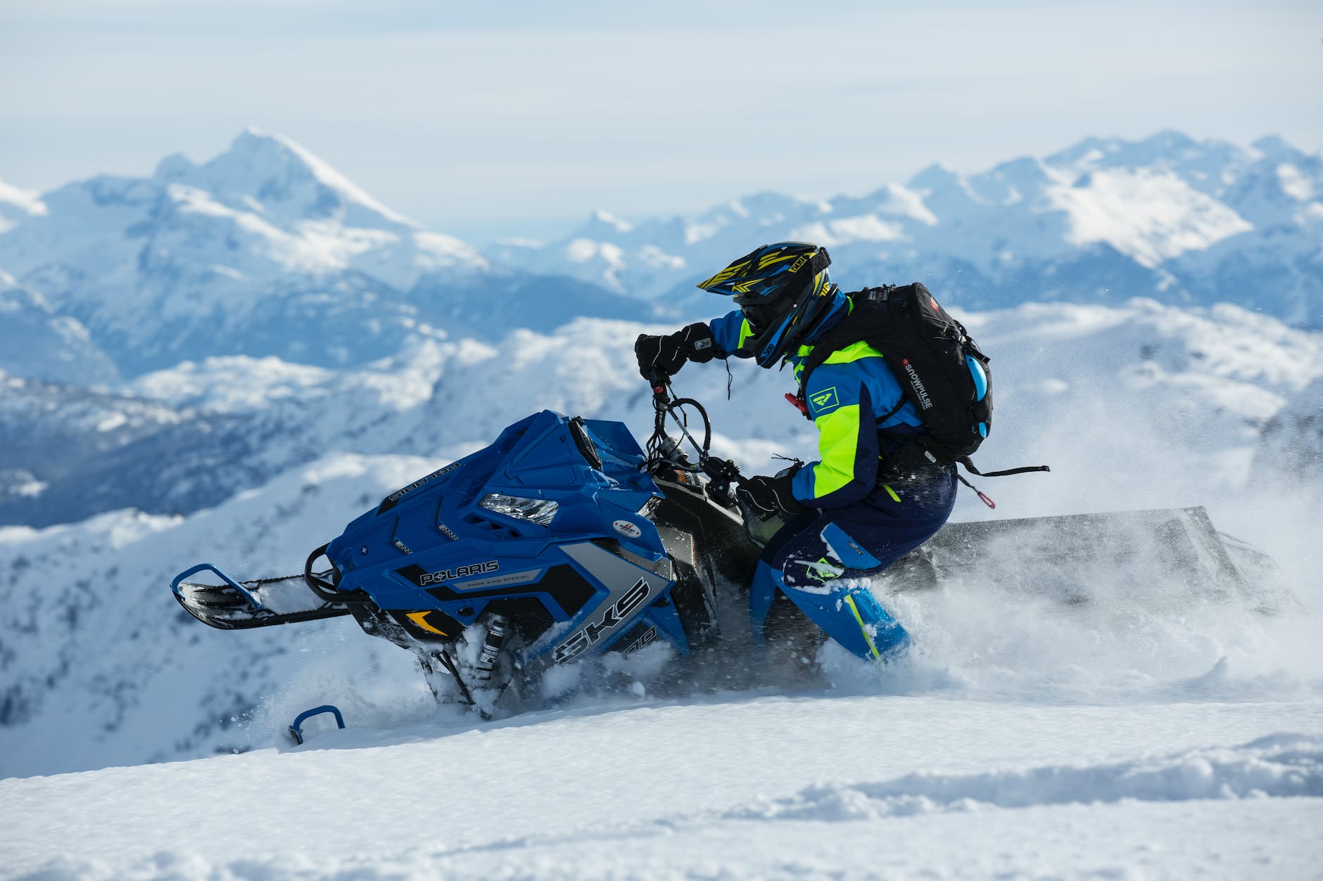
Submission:
{"label": "entire blue Polaris snowmobile from front ski to snow-dusted rear tunnel", "polygon": [[[646,450],[620,422],[537,413],[388,495],[316,548],[302,575],[239,582],[202,564],[173,579],[175,597],[222,630],[352,615],[414,652],[438,700],[484,714],[550,667],[620,667],[643,652],[669,652],[660,675],[689,684],[704,671],[695,661],[714,659],[714,684],[737,687],[728,661],[749,642],[747,587],[781,521],[741,511],[736,466],[708,455],[703,406],[673,399],[664,377],[652,385]],[[204,571],[209,582],[189,581]],[[951,523],[873,591],[954,579],[1077,607],[1094,581],[1142,595],[1155,578],[1164,593],[1263,612],[1298,605],[1271,558],[1217,532],[1203,508]],[[745,632],[722,636],[720,608],[736,612],[724,616],[728,631]],[[762,661],[803,671],[828,636],[857,644],[841,630],[853,622],[827,612],[778,594]]]}

